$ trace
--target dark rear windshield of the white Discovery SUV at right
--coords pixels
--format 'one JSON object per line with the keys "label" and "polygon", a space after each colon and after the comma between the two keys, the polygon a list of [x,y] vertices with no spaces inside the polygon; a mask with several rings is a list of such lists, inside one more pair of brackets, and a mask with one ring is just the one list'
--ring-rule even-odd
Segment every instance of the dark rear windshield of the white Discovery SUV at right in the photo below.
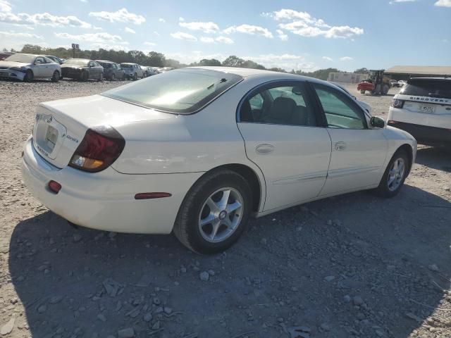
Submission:
{"label": "dark rear windshield of the white Discovery SUV at right", "polygon": [[451,99],[451,80],[409,80],[400,94]]}

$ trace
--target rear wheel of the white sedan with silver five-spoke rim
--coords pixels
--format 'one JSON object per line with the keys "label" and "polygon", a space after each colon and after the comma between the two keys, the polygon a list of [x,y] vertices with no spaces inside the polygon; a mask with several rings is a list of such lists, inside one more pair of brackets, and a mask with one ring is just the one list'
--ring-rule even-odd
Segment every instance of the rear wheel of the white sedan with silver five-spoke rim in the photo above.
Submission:
{"label": "rear wheel of the white sedan with silver five-spoke rim", "polygon": [[245,230],[252,206],[247,181],[231,170],[204,175],[185,196],[173,232],[188,249],[218,253]]}

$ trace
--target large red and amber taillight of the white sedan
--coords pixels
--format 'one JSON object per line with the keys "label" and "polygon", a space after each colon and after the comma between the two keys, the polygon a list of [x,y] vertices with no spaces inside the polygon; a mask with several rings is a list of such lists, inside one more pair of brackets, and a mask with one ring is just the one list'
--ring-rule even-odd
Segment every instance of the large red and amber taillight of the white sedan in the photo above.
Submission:
{"label": "large red and amber taillight of the white sedan", "polygon": [[113,127],[88,129],[70,159],[73,168],[97,173],[108,168],[121,155],[125,139]]}

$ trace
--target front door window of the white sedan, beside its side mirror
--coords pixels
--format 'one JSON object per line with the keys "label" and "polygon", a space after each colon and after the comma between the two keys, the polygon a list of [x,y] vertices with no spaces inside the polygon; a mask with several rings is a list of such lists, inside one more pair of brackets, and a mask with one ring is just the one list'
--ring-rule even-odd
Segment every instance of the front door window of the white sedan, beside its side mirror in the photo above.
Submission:
{"label": "front door window of the white sedan, beside its side mirror", "polygon": [[366,129],[364,113],[351,104],[342,93],[333,88],[314,84],[328,127],[344,129]]}

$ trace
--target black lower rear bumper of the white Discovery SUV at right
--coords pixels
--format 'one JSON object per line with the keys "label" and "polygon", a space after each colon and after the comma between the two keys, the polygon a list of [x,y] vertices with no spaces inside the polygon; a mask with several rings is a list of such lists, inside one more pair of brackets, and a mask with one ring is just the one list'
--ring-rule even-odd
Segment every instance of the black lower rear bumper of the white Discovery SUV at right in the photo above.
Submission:
{"label": "black lower rear bumper of the white Discovery SUV at right", "polygon": [[398,122],[395,120],[389,120],[387,124],[408,132],[415,137],[416,142],[419,144],[430,146],[451,145],[450,129],[416,125],[414,123]]}

